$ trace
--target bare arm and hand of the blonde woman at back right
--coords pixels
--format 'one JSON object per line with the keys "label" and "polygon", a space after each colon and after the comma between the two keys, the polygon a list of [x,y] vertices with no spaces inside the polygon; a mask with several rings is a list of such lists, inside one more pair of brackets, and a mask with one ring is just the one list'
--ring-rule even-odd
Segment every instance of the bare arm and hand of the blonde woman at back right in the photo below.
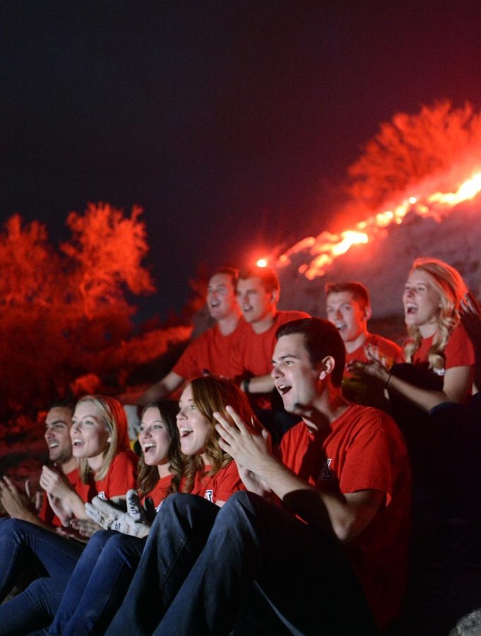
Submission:
{"label": "bare arm and hand of the blonde woman at back right", "polygon": [[374,358],[371,358],[369,363],[356,362],[352,365],[352,368],[359,370],[364,375],[378,379],[384,385],[384,388],[396,391],[396,393],[426,412],[444,402],[459,403],[463,401],[470,387],[471,369],[468,365],[446,369],[442,391],[421,389],[416,387],[415,384],[410,384],[404,379],[391,375],[386,367]]}

